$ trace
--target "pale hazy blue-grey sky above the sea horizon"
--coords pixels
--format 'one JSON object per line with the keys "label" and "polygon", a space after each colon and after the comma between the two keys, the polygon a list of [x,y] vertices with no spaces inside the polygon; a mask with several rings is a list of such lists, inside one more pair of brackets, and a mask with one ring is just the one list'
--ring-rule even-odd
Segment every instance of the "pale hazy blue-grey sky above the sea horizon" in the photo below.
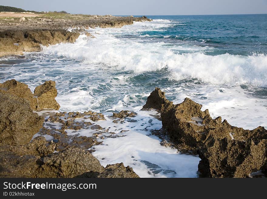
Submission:
{"label": "pale hazy blue-grey sky above the sea horizon", "polygon": [[0,5],[91,15],[267,14],[267,0],[0,0]]}

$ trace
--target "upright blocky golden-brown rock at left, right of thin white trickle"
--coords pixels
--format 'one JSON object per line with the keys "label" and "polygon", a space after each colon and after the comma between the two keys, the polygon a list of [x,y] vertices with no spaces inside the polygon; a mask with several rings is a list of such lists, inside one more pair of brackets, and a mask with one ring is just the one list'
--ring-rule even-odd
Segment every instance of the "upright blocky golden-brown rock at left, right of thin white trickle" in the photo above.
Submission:
{"label": "upright blocky golden-brown rock at left, right of thin white trickle", "polygon": [[33,95],[34,97],[36,97],[36,102],[38,100],[37,110],[42,110],[45,108],[52,108],[55,110],[59,110],[60,105],[55,100],[57,96],[55,81],[46,81],[42,85],[37,86],[34,89]]}

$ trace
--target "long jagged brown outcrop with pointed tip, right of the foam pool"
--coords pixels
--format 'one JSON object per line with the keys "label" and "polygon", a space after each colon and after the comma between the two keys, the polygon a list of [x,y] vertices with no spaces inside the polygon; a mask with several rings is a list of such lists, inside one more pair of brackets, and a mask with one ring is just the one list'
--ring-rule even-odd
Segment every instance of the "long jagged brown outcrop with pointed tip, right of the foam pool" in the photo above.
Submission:
{"label": "long jagged brown outcrop with pointed tip, right of the foam pool", "polygon": [[244,130],[221,117],[212,119],[202,105],[185,98],[173,104],[159,88],[151,93],[143,110],[161,112],[162,128],[174,146],[198,154],[201,177],[260,177],[267,174],[267,130]]}

